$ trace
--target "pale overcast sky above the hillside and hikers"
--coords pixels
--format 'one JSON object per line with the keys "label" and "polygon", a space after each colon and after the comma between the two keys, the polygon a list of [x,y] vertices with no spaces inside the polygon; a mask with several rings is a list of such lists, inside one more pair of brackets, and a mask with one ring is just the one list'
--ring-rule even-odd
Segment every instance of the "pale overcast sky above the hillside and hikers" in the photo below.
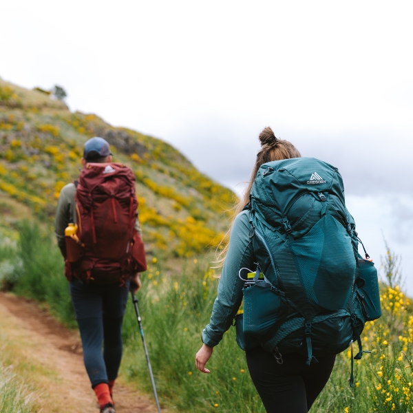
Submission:
{"label": "pale overcast sky above the hillside and hikers", "polygon": [[[341,171],[413,295],[411,1],[4,0],[0,76],[162,138],[240,192],[271,125]],[[378,265],[379,266],[379,265]]]}

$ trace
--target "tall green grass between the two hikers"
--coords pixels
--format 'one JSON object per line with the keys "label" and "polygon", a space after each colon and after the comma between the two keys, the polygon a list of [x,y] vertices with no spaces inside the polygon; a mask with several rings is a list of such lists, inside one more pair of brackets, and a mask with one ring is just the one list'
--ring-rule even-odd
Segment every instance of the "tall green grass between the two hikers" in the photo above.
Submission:
{"label": "tall green grass between the two hikers", "polygon": [[[140,310],[149,354],[162,399],[179,411],[264,412],[248,375],[244,353],[235,343],[233,328],[209,362],[211,374],[195,368],[195,352],[202,346],[202,328],[211,315],[217,280],[211,271],[183,273],[179,280],[162,282],[160,266],[150,266],[144,277]],[[159,273],[158,273],[159,272]],[[136,317],[127,307],[123,334],[126,354],[123,372],[137,377],[150,392]],[[136,351],[138,350],[138,351]]]}

